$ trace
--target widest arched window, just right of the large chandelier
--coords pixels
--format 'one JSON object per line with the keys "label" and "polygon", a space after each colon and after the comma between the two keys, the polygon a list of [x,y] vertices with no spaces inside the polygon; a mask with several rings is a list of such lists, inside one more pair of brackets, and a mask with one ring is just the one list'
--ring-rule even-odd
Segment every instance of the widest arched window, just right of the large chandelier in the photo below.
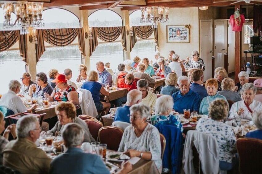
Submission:
{"label": "widest arched window, just right of the large chandelier", "polygon": [[[72,12],[61,9],[52,8],[44,10],[43,18],[45,28],[78,28],[80,22],[78,17]],[[45,44],[45,52],[36,64],[36,71],[44,72],[48,76],[50,69],[57,69],[60,74],[64,73],[66,68],[72,70],[72,81],[75,81],[78,75],[78,66],[81,64],[81,52],[78,48],[78,38],[66,47],[56,47]]]}

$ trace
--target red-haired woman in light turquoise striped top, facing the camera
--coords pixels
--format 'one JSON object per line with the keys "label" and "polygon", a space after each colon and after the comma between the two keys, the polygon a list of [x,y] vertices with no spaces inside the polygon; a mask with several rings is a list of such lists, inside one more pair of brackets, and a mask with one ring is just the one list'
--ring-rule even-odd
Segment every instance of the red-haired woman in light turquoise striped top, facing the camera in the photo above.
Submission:
{"label": "red-haired woman in light turquoise striped top, facing the camera", "polygon": [[205,83],[205,88],[208,96],[204,97],[200,103],[199,114],[208,114],[208,107],[215,99],[224,99],[227,103],[226,97],[217,93],[218,81],[216,79],[208,79]]}

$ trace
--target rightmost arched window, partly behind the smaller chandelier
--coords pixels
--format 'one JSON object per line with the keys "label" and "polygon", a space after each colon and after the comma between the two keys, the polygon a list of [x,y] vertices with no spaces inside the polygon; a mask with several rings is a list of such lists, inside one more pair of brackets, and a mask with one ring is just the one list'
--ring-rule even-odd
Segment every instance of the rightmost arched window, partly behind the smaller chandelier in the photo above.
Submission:
{"label": "rightmost arched window, partly behind the smaller chandelier", "polygon": [[[140,10],[133,11],[131,14],[129,14],[130,25],[131,26],[150,25],[149,23],[140,23],[140,17],[141,17]],[[131,60],[133,60],[135,56],[138,56],[141,58],[141,60],[143,58],[148,58],[149,61],[153,60],[154,62],[155,61],[154,59],[155,43],[154,42],[155,42],[154,41],[154,32],[149,38],[145,40],[137,38],[137,43],[135,44],[135,46],[133,47],[130,53]]]}

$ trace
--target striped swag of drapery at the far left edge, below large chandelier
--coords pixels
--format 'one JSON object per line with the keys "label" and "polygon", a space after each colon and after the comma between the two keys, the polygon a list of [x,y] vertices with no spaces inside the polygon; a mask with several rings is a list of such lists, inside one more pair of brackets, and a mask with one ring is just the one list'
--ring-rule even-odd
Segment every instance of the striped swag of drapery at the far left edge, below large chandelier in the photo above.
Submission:
{"label": "striped swag of drapery at the far left edge, below large chandelier", "polygon": [[0,31],[0,51],[6,51],[18,41],[18,30]]}

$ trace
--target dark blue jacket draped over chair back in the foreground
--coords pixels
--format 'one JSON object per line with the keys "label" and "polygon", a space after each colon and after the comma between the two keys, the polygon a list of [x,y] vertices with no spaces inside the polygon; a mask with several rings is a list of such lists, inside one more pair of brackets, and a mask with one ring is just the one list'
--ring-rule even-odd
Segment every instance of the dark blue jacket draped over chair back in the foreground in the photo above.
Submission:
{"label": "dark blue jacket draped over chair back in the foreground", "polygon": [[172,174],[180,173],[182,161],[182,133],[179,128],[171,125],[158,124],[158,131],[166,138],[166,148],[163,155],[163,168],[169,168]]}

